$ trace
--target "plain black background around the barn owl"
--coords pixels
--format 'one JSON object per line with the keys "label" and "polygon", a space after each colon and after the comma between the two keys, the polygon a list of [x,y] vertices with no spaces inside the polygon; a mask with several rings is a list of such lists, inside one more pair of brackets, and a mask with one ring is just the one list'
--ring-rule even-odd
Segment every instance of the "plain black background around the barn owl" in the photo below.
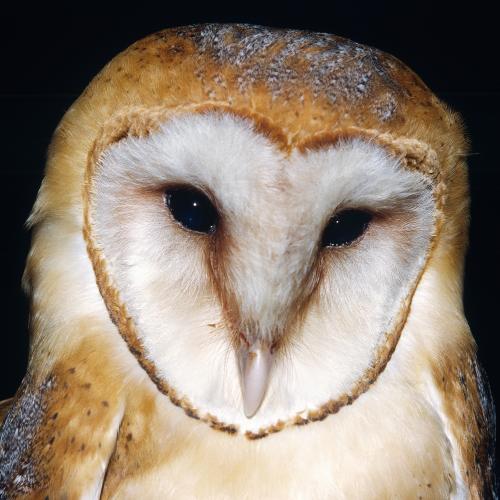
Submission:
{"label": "plain black background around the barn owl", "polygon": [[[26,367],[27,301],[20,280],[29,248],[24,229],[51,134],[64,111],[117,52],[154,31],[197,22],[246,22],[326,31],[392,53],[459,111],[471,139],[472,218],[465,313],[498,394],[498,164],[500,63],[497,16],[478,2],[384,4],[289,2],[227,7],[144,2],[78,10],[14,7],[0,34],[2,161],[2,342],[0,399]],[[498,401],[498,398],[496,398]]]}

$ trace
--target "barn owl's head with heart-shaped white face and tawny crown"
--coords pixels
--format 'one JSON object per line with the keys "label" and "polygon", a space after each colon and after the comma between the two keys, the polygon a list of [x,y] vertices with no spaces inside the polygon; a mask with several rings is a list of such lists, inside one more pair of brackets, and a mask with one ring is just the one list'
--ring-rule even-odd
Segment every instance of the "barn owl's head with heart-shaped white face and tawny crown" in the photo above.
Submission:
{"label": "barn owl's head with heart-shaped white face and tawny crown", "polygon": [[465,151],[412,71],[346,39],[141,40],[56,130],[30,218],[33,352],[125,342],[187,416],[250,438],[412,380],[454,341],[434,311],[464,322]]}

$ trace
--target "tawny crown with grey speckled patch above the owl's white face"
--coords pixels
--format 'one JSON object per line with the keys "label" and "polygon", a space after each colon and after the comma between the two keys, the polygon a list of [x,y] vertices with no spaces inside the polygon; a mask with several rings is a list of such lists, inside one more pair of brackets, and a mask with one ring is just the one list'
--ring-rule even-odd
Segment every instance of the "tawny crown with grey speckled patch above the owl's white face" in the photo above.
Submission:
{"label": "tawny crown with grey speckled patch above the owl's white face", "polygon": [[326,33],[262,26],[165,30],[134,44],[103,76],[108,97],[113,83],[144,104],[245,106],[294,135],[334,124],[401,127],[409,105],[417,119],[442,112],[418,77],[388,54]]}

